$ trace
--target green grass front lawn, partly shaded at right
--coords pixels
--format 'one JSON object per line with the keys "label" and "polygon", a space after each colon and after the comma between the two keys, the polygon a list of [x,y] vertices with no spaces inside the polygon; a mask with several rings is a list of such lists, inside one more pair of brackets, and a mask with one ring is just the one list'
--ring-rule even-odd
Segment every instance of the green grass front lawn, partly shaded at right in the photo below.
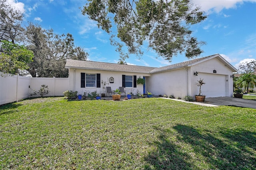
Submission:
{"label": "green grass front lawn, partly shaded at right", "polygon": [[256,109],[161,98],[0,107],[0,169],[254,170]]}

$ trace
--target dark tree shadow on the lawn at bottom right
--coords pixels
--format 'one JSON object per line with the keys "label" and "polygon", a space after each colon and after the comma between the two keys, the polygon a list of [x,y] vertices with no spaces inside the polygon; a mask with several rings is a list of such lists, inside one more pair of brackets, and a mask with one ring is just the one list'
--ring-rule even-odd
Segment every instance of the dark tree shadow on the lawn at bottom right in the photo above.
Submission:
{"label": "dark tree shadow on the lawn at bottom right", "polygon": [[[186,125],[178,124],[174,129],[178,132],[176,144],[168,140],[168,130],[158,128],[159,142],[152,143],[156,150],[145,158],[149,164],[145,170],[202,169],[198,159],[203,161],[200,164],[208,164],[206,167],[209,169],[256,169],[255,132],[223,130],[219,132],[220,140],[210,133],[200,134],[198,130]],[[182,144],[193,149],[188,150]]]}

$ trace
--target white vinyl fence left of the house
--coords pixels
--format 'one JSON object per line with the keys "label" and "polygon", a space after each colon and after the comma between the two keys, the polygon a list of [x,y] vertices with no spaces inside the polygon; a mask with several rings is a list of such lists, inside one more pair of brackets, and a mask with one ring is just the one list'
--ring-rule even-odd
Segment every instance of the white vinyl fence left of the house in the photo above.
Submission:
{"label": "white vinyl fence left of the house", "polygon": [[64,96],[63,92],[69,89],[69,78],[32,78],[0,72],[0,105],[29,98],[43,84],[49,88],[45,96]]}

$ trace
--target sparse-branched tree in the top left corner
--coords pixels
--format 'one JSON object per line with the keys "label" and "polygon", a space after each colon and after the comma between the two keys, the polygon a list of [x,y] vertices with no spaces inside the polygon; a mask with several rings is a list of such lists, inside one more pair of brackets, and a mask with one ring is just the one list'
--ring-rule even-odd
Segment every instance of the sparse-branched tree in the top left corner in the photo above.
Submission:
{"label": "sparse-branched tree in the top left corner", "polygon": [[0,40],[15,41],[22,37],[24,28],[21,26],[23,14],[6,3],[6,0],[0,0]]}

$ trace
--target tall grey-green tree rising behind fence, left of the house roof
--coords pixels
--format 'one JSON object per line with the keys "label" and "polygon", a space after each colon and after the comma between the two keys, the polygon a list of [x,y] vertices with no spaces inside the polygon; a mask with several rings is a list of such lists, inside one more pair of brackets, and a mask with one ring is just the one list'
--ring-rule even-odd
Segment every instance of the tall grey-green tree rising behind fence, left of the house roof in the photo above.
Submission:
{"label": "tall grey-green tree rising behind fence, left of the house roof", "polygon": [[26,28],[26,43],[34,52],[34,62],[28,72],[32,77],[68,77],[66,59],[86,60],[88,54],[81,47],[74,46],[72,34],[54,34],[39,25],[29,24]]}

